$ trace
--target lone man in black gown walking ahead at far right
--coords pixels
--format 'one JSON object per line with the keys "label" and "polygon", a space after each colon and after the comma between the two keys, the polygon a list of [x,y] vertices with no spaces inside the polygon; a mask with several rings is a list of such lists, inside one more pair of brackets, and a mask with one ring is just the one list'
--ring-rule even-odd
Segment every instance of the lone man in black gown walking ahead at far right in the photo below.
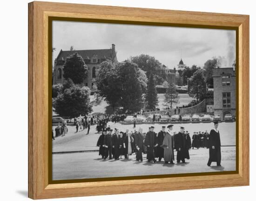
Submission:
{"label": "lone man in black gown walking ahead at far right", "polygon": [[221,139],[218,126],[219,123],[214,122],[214,129],[210,131],[208,166],[211,166],[211,162],[217,162],[217,166],[221,166]]}

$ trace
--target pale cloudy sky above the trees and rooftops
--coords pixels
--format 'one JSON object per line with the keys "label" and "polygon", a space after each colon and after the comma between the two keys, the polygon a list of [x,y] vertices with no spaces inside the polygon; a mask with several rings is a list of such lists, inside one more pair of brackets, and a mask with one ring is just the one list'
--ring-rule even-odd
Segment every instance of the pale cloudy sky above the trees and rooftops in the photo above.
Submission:
{"label": "pale cloudy sky above the trees and rooftops", "polygon": [[222,57],[221,67],[232,67],[236,58],[236,31],[170,26],[121,25],[53,21],[53,53],[60,50],[108,49],[115,44],[119,62],[148,54],[168,68],[183,60],[187,66],[203,66],[213,57]]}

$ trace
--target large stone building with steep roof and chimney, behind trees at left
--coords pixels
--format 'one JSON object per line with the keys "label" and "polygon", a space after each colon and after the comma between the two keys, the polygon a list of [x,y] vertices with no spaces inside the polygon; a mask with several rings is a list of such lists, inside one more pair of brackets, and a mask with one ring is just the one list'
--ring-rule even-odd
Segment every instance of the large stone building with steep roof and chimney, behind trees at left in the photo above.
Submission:
{"label": "large stone building with steep roof and chimney, behind trees at left", "polygon": [[95,90],[95,78],[96,70],[99,68],[102,61],[112,60],[115,65],[117,61],[115,44],[109,49],[99,49],[99,50],[72,50],[72,51],[60,51],[57,58],[54,61],[54,71],[53,71],[53,84],[63,84],[65,78],[63,78],[63,67],[66,58],[77,52],[84,60],[87,65],[88,72],[87,78],[84,81],[85,86],[88,86],[90,90]]}

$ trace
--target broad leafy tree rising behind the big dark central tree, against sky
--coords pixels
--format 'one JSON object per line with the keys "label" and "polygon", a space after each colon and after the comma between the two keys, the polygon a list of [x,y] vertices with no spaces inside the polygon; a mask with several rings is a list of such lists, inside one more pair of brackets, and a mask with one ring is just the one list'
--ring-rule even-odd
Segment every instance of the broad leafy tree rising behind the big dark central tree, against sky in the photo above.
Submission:
{"label": "broad leafy tree rising behind the big dark central tree, against sky", "polygon": [[139,56],[132,57],[131,61],[137,64],[141,70],[146,71],[148,79],[149,76],[153,74],[156,84],[162,84],[163,81],[166,80],[166,72],[161,69],[161,63],[155,59],[155,57],[141,54]]}

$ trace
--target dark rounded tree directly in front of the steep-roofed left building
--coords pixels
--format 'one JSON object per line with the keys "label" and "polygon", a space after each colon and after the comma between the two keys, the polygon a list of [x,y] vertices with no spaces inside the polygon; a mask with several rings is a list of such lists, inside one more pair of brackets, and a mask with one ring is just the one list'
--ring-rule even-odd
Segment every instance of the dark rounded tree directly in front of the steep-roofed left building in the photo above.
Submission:
{"label": "dark rounded tree directly in front of the steep-roofed left building", "polygon": [[63,77],[65,79],[70,78],[74,84],[81,84],[86,78],[87,66],[83,58],[75,52],[73,55],[66,58],[63,71]]}

